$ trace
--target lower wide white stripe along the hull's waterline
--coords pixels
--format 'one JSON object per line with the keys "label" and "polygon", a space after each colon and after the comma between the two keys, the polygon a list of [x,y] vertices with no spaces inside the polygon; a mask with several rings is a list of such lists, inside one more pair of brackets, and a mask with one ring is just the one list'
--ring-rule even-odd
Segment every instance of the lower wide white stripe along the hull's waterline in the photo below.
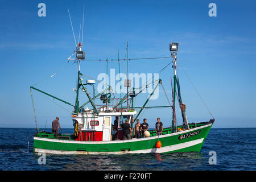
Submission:
{"label": "lower wide white stripe along the hull's waterline", "polygon": [[136,150],[136,151],[118,151],[118,152],[86,152],[86,151],[61,151],[61,150],[48,150],[35,148],[35,152],[39,153],[47,153],[47,154],[141,154],[141,153],[163,153],[163,152],[171,152],[175,150],[180,150],[182,148],[187,148],[191,146],[195,146],[196,144],[202,143],[204,138],[196,139],[190,142],[184,142],[180,144],[174,144],[172,146],[166,146],[161,148],[150,148],[145,150]]}

